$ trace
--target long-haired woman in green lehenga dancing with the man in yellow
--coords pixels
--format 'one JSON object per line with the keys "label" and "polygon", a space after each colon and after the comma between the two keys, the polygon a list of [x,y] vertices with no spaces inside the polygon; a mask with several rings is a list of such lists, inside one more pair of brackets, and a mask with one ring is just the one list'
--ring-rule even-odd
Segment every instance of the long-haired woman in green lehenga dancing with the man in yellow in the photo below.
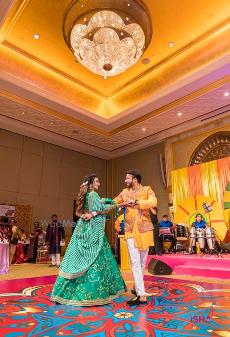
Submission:
{"label": "long-haired woman in green lehenga dancing with the man in yellow", "polygon": [[[78,220],[59,268],[51,300],[74,306],[104,305],[126,292],[121,272],[104,234],[106,213],[118,206],[97,194],[95,174],[80,186]],[[89,221],[86,221],[89,220]]]}

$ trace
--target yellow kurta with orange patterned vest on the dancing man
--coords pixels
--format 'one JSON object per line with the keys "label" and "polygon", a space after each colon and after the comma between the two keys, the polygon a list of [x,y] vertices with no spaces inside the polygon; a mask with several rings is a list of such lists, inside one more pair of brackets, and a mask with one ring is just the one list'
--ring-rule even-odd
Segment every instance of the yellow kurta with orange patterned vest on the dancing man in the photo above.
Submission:
{"label": "yellow kurta with orange patterned vest on the dancing man", "polygon": [[133,189],[123,189],[114,200],[117,203],[122,203],[135,199],[139,201],[139,205],[126,208],[125,240],[134,238],[135,247],[146,250],[149,246],[154,245],[149,208],[156,206],[157,199],[151,187],[139,185]]}

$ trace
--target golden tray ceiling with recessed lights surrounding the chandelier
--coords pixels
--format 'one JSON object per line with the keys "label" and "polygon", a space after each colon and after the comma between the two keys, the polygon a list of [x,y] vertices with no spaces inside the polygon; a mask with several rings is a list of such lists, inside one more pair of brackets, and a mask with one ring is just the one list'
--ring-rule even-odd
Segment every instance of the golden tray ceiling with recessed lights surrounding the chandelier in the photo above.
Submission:
{"label": "golden tray ceiling with recessed lights surrounding the chandelier", "polygon": [[228,0],[143,1],[150,44],[134,66],[106,80],[65,43],[71,2],[2,0],[3,129],[109,159],[229,116]]}

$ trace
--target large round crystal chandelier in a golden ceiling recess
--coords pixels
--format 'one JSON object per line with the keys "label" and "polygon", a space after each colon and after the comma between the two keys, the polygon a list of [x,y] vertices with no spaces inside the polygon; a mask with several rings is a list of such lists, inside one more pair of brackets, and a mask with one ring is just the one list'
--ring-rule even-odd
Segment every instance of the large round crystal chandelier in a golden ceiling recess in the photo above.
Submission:
{"label": "large round crystal chandelier in a golden ceiling recess", "polygon": [[63,32],[77,61],[103,78],[133,66],[147,48],[150,18],[137,0],[78,0],[65,13]]}

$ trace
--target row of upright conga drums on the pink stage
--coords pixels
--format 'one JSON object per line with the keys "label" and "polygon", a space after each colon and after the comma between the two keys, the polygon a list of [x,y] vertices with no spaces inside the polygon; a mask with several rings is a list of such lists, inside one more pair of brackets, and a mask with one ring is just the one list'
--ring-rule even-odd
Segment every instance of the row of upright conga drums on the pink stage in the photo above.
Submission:
{"label": "row of upright conga drums on the pink stage", "polygon": [[191,251],[192,246],[196,245],[196,239],[198,241],[200,249],[204,249],[205,239],[209,247],[208,252],[212,251],[213,249],[216,249],[215,228],[213,227],[205,227],[205,228],[190,227],[190,230],[188,231],[187,223],[177,223],[176,237],[177,241],[187,241],[187,247],[185,247],[184,251],[186,249]]}

